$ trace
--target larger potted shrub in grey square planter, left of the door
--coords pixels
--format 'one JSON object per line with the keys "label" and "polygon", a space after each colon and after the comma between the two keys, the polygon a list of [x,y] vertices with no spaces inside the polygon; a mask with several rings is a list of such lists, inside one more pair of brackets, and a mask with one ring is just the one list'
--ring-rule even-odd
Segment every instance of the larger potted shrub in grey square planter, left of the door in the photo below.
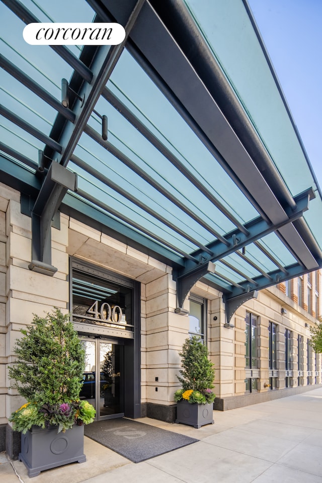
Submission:
{"label": "larger potted shrub in grey square planter, left of the door", "polygon": [[19,459],[30,477],[74,461],[86,461],[84,427],[94,421],[95,409],[79,400],[85,352],[69,321],[59,309],[45,317],[34,315],[21,330],[9,376],[27,403],[9,421],[21,431]]}

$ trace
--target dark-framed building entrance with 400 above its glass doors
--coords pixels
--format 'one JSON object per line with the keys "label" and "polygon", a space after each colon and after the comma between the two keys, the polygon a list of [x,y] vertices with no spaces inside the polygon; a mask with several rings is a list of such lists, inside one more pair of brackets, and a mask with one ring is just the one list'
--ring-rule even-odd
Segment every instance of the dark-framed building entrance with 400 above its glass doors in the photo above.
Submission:
{"label": "dark-framed building entrance with 400 above its glass doors", "polygon": [[97,419],[139,418],[140,284],[75,259],[70,273],[71,318],[86,352],[81,397]]}

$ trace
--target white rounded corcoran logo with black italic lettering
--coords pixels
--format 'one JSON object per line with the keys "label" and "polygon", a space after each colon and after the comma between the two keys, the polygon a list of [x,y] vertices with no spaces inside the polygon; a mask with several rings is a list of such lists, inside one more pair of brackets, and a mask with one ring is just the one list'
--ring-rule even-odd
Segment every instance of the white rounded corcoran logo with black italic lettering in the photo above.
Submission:
{"label": "white rounded corcoran logo with black italic lettering", "polygon": [[125,30],[117,23],[32,23],[23,36],[31,45],[118,45]]}

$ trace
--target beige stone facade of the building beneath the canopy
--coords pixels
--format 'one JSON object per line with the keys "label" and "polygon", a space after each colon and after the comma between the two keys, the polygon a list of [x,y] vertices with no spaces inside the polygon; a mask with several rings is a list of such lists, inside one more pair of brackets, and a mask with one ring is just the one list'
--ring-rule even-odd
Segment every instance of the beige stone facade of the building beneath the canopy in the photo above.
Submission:
{"label": "beige stone facade of the building beneath the canopy", "polygon": [[[69,310],[70,257],[140,282],[141,414],[173,421],[174,392],[179,387],[176,377],[180,368],[178,352],[188,337],[189,317],[175,313],[176,282],[172,268],[108,233],[60,214],[60,229],[52,227],[51,232],[52,264],[58,270],[53,277],[32,272],[28,268],[32,248],[31,218],[21,213],[19,192],[0,184],[0,194],[0,428],[4,428],[1,425],[10,427],[7,426],[9,416],[23,403],[10,388],[8,378],[8,365],[13,361],[19,331],[31,323],[33,313],[41,315],[53,307]],[[301,280],[301,306],[297,303],[297,279],[291,281],[290,296],[286,294],[285,284],[279,284],[241,305],[231,320],[233,328],[224,327],[222,294],[200,281],[193,287],[191,292],[194,295],[207,300],[205,338],[216,368],[215,408],[242,406],[321,383],[321,357],[315,357],[312,351],[307,352],[309,326],[316,323],[315,317],[321,313],[321,277],[319,273],[304,275]],[[189,310],[188,298],[183,308]],[[248,375],[245,363],[246,311],[258,317],[258,377],[257,389],[252,392],[246,391],[245,383]],[[272,377],[269,367],[270,322],[277,328],[274,390],[267,386]],[[287,376],[285,330],[290,331],[291,368]],[[12,439],[12,435],[7,439]],[[3,441],[1,434],[0,441]]]}

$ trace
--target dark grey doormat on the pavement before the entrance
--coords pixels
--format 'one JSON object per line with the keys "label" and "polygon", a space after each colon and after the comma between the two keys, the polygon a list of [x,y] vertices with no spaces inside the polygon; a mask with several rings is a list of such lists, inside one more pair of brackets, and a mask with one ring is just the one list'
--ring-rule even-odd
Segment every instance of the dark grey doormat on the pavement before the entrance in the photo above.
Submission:
{"label": "dark grey doormat on the pavement before the entrance", "polygon": [[133,463],[139,463],[199,441],[183,434],[125,418],[95,421],[84,427],[84,434]]}

